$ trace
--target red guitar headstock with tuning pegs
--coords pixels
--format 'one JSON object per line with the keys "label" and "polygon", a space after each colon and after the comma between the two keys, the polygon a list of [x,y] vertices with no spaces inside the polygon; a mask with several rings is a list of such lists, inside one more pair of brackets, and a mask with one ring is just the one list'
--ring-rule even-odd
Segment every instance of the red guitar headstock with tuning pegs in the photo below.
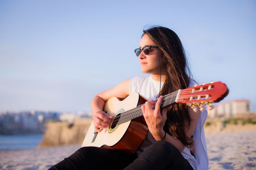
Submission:
{"label": "red guitar headstock with tuning pegs", "polygon": [[211,83],[202,83],[202,85],[181,90],[177,103],[186,104],[191,108],[199,106],[200,110],[203,110],[205,105],[212,108],[211,103],[218,103],[227,94],[228,88],[225,83],[211,81]]}

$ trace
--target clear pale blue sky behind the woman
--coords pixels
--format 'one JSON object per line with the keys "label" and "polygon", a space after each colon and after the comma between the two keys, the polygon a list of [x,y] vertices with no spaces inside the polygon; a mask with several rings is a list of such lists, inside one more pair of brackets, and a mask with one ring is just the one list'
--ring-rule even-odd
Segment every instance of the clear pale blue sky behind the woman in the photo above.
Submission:
{"label": "clear pale blue sky behind the woman", "polygon": [[143,28],[180,37],[196,81],[256,111],[255,1],[0,1],[0,111],[90,111],[92,97],[143,75]]}

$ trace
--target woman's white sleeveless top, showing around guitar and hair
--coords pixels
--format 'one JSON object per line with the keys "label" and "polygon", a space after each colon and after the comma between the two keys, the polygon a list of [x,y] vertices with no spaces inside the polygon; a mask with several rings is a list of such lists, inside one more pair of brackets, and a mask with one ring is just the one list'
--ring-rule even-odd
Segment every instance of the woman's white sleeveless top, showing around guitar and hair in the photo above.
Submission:
{"label": "woman's white sleeveless top, showing around guitar and hair", "polygon": [[[163,87],[163,83],[164,82],[161,82],[161,87]],[[194,84],[195,81],[191,80],[189,86],[193,86]],[[159,86],[160,82],[153,80],[152,76],[133,77],[130,81],[129,92],[130,94],[133,92],[138,92],[141,96],[148,100],[156,99],[157,94],[159,94]],[[207,111],[200,113],[200,118],[196,125],[195,132],[193,133],[196,159],[193,155],[191,155],[190,150],[187,147],[185,147],[181,153],[183,157],[188,160],[193,169],[208,169],[208,156],[204,134],[204,122],[206,117]],[[155,142],[154,138],[150,133],[148,133],[145,143],[141,145],[137,153],[140,154],[149,145],[148,143],[153,142]]]}

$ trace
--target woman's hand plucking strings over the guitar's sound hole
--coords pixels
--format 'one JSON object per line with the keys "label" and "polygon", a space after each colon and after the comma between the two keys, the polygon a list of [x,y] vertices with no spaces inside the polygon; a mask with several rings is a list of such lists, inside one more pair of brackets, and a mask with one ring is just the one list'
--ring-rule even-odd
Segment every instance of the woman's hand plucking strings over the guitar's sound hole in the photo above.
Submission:
{"label": "woman's hand plucking strings over the guitar's sound hole", "polygon": [[113,117],[109,116],[104,111],[96,111],[93,113],[93,124],[95,132],[101,132],[104,128],[108,128],[108,125],[112,122]]}

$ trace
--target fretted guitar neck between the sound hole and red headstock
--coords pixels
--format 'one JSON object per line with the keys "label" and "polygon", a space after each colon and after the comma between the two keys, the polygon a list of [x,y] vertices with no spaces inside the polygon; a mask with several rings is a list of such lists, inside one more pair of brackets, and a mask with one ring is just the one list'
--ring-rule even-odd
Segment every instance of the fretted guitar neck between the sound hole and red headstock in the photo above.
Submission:
{"label": "fretted guitar neck between the sound hole and red headstock", "polygon": [[[166,96],[164,96],[163,101],[161,103],[161,108],[177,102],[180,96],[180,92],[181,90],[177,90],[176,92],[172,92],[171,94],[167,94]],[[155,99],[154,101],[157,101],[157,99]],[[134,118],[143,116],[141,106],[143,106],[143,104],[137,106],[136,108],[133,108],[132,110],[127,110],[123,113],[120,113],[120,116],[118,116],[119,120],[116,125],[120,125]]]}

